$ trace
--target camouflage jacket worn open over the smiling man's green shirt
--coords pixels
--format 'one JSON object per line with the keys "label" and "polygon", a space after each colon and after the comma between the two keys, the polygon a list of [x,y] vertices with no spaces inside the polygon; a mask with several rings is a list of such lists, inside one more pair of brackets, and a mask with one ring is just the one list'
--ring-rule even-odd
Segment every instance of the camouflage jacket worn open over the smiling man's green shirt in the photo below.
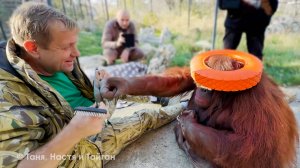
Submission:
{"label": "camouflage jacket worn open over the smiling man's green shirt", "polygon": [[[0,52],[5,56],[3,50]],[[6,46],[7,64],[23,79],[0,69],[0,167],[16,167],[29,152],[55,137],[74,115],[68,102],[17,53],[18,47],[10,40]],[[85,97],[93,100],[92,85],[78,61],[67,76]],[[62,160],[60,167],[101,167],[101,160],[84,157],[99,152],[95,144],[81,140],[68,154],[72,157]]]}

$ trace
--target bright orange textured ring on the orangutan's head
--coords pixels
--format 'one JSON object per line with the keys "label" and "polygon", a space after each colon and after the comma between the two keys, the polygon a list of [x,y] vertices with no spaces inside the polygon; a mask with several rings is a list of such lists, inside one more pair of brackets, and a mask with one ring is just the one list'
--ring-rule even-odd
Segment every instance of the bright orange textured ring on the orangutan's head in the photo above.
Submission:
{"label": "bright orange textured ring on the orangutan's head", "polygon": [[[205,61],[214,55],[228,56],[242,62],[244,66],[233,71],[212,69]],[[207,51],[193,57],[190,68],[196,84],[219,91],[240,91],[257,85],[261,79],[263,64],[254,55],[226,49]]]}

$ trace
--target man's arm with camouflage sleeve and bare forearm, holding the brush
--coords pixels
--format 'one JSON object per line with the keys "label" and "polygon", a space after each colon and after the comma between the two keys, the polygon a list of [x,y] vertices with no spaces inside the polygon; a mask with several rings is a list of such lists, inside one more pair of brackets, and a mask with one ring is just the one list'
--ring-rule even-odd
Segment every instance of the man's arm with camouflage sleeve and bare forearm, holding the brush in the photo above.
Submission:
{"label": "man's arm with camouflage sleeve and bare forearm, holding the brush", "polygon": [[[50,154],[64,155],[82,138],[97,134],[107,116],[87,117],[75,115],[60,133],[54,127],[52,117],[40,115],[43,109],[33,106],[14,106],[3,102],[0,108],[0,167],[57,167],[60,160],[50,159]],[[27,108],[26,108],[27,107]],[[8,110],[6,110],[8,109]],[[53,125],[49,125],[53,124]],[[49,129],[45,130],[45,127]],[[52,140],[41,146],[50,131]],[[34,155],[34,157],[30,157]],[[36,156],[36,157],[35,157]]]}

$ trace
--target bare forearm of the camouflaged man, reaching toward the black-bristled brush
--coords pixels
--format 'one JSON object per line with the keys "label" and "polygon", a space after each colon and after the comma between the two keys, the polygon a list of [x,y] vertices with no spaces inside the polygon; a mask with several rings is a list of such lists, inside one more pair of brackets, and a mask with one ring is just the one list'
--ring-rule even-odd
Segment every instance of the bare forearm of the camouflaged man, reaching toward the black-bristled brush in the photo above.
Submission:
{"label": "bare forearm of the camouflaged man, reaching toward the black-bristled brush", "polygon": [[[99,133],[105,117],[88,117],[75,115],[71,122],[50,142],[29,153],[18,167],[57,167],[61,160],[51,159],[50,155],[66,155],[82,138]],[[30,159],[30,155],[45,156],[43,160]]]}

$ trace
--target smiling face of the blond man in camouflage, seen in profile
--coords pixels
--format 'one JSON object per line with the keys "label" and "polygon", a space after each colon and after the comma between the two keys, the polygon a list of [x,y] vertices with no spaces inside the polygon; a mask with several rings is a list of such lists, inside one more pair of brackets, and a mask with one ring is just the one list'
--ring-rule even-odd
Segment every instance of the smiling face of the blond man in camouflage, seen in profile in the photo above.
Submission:
{"label": "smiling face of the blond man in camouflage, seen in profile", "polygon": [[78,29],[68,30],[61,22],[50,24],[51,40],[48,47],[38,47],[39,71],[51,75],[58,71],[70,72],[80,55],[77,49]]}

